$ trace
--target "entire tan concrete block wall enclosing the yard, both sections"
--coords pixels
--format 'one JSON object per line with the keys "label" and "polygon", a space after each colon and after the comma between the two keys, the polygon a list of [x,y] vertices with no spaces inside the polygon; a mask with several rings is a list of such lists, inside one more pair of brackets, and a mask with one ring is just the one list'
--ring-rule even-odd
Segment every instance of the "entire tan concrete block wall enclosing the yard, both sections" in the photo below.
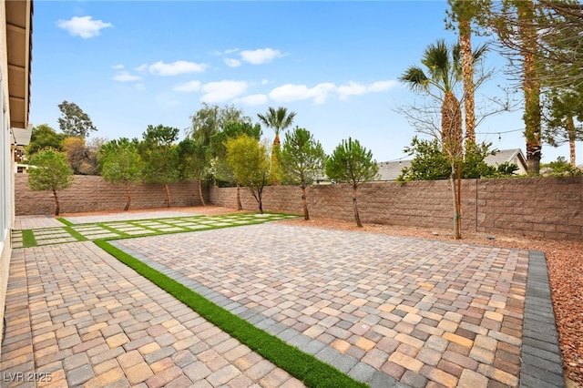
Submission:
{"label": "entire tan concrete block wall enclosing the yard, both sections", "polygon": [[[26,174],[15,175],[16,215],[50,214],[52,193],[31,191]],[[169,185],[173,207],[200,205],[196,183]],[[161,185],[135,185],[131,209],[167,206]],[[314,218],[353,220],[352,189],[347,185],[307,188]],[[203,187],[207,203],[236,208],[236,189]],[[243,209],[257,210],[249,189],[240,189]],[[61,211],[121,210],[125,188],[101,177],[76,176],[72,188],[60,191]],[[363,185],[358,207],[364,223],[422,228],[452,227],[453,199],[445,180]],[[263,191],[265,211],[302,214],[302,191],[295,186],[270,186]],[[551,240],[583,240],[583,177],[465,179],[462,183],[463,230]]]}

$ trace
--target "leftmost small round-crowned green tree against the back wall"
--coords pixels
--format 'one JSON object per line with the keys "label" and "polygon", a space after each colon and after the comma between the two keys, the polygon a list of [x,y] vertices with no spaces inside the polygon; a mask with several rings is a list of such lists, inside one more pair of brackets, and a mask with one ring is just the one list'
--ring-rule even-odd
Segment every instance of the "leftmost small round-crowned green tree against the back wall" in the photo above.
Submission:
{"label": "leftmost small round-crowned green tree against the back wall", "polygon": [[28,186],[33,191],[52,190],[55,198],[55,215],[61,207],[56,192],[73,185],[73,170],[66,161],[66,155],[55,149],[47,148],[30,158],[33,168],[28,170]]}

